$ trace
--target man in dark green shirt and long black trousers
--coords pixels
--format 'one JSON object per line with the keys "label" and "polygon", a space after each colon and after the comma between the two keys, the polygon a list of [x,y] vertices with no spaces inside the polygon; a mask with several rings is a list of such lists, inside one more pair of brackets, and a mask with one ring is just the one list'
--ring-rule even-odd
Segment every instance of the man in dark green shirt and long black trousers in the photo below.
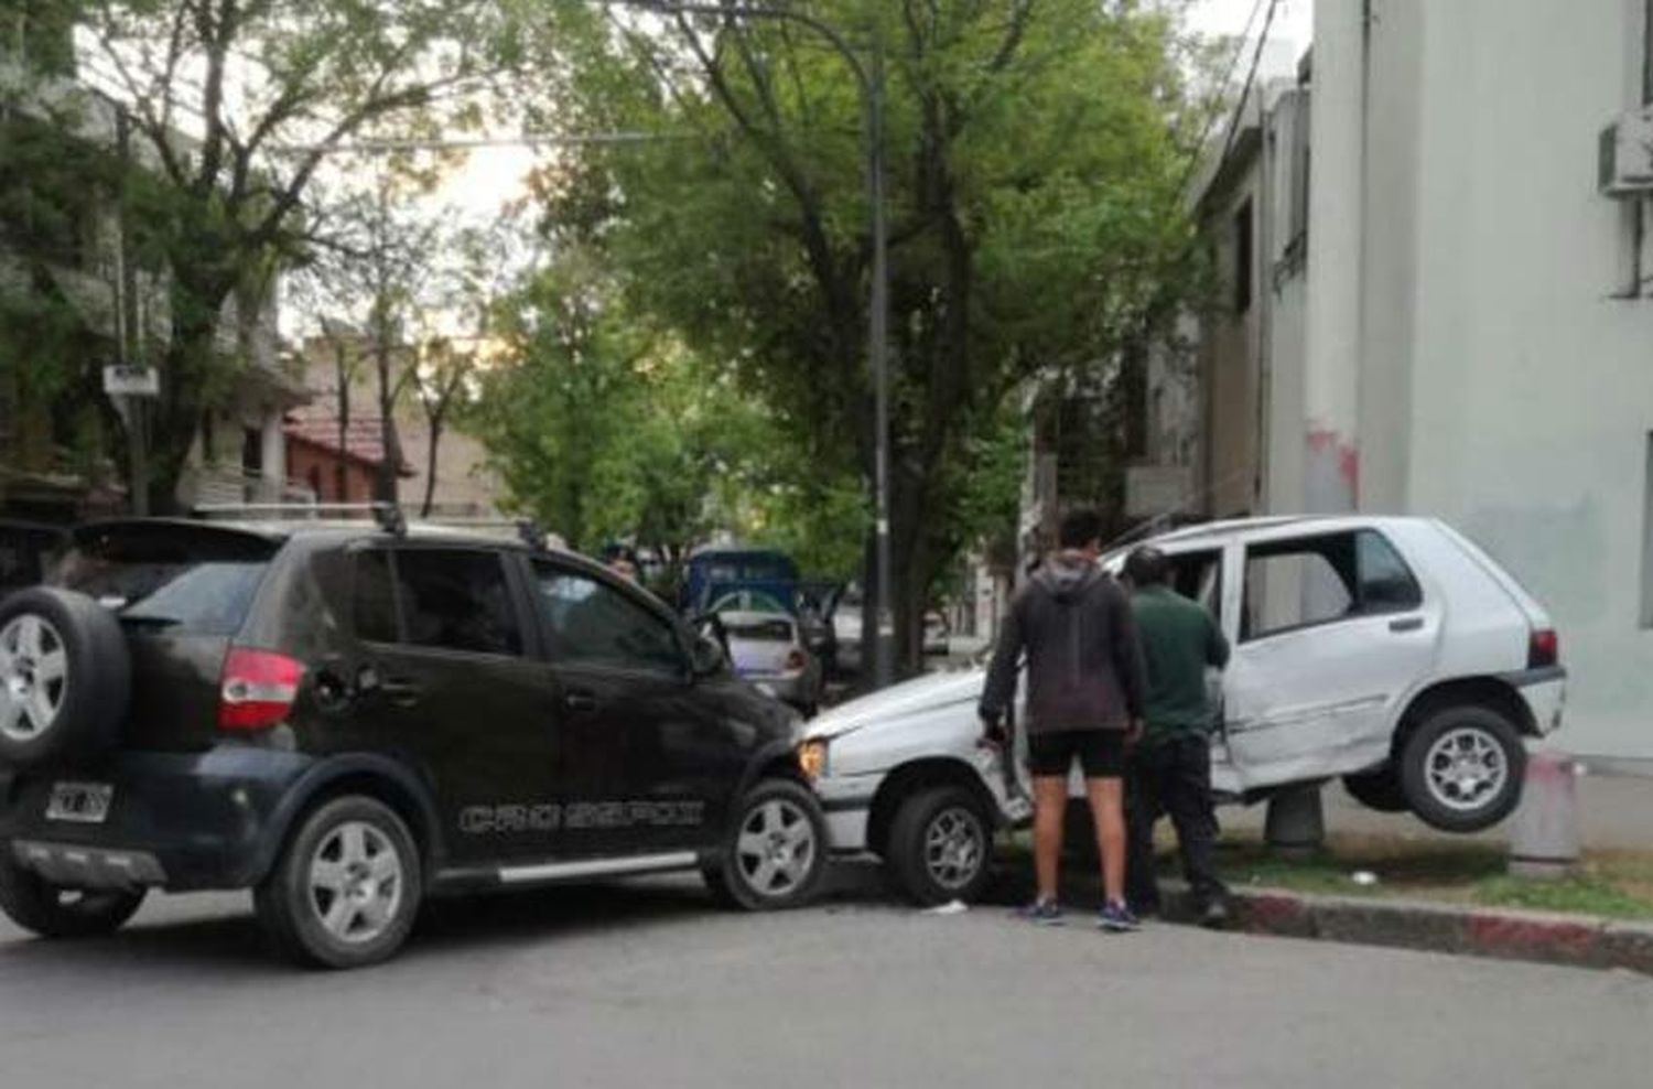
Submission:
{"label": "man in dark green shirt and long black trousers", "polygon": [[1159,911],[1154,877],[1154,825],[1162,813],[1177,830],[1182,873],[1200,919],[1228,920],[1228,889],[1217,876],[1212,810],[1210,732],[1217,709],[1207,696],[1205,671],[1228,664],[1228,640],[1205,608],[1169,585],[1170,564],[1142,547],[1126,559],[1131,610],[1147,663],[1146,730],[1127,773],[1127,889],[1137,914]]}

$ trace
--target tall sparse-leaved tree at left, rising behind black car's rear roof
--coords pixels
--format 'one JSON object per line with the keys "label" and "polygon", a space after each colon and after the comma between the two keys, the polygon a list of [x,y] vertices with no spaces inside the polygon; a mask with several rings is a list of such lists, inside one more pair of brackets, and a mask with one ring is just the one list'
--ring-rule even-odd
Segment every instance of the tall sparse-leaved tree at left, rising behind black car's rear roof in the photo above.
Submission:
{"label": "tall sparse-leaved tree at left, rising behind black car's rear roof", "polygon": [[304,200],[327,155],[364,134],[474,121],[468,93],[514,63],[516,17],[486,0],[83,3],[98,68],[154,165],[132,202],[172,288],[154,509],[175,506],[207,398],[240,365],[215,345],[225,307],[304,253]]}

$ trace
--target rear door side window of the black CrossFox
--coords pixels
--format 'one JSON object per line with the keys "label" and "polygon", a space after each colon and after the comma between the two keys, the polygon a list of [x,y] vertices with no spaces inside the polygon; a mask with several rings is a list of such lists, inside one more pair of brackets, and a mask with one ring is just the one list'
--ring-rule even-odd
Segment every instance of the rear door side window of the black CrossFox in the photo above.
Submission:
{"label": "rear door side window of the black CrossFox", "polygon": [[522,653],[522,630],[498,554],[403,549],[395,557],[395,575],[398,641],[473,654]]}

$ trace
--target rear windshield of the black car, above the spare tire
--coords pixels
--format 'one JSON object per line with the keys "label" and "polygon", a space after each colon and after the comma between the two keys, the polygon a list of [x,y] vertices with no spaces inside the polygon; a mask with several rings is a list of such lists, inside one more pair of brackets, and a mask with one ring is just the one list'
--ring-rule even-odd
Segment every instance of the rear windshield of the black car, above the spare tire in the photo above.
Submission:
{"label": "rear windshield of the black car, above the spare tire", "polygon": [[76,534],[53,582],[121,620],[175,635],[235,635],[278,542],[190,525],[119,525]]}

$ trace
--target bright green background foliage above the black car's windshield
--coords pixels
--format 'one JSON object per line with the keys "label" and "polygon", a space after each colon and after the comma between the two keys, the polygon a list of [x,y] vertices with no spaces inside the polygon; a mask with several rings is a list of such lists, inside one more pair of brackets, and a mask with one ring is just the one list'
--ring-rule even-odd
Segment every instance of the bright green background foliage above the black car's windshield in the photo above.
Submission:
{"label": "bright green background foliage above the black car's windshield", "polygon": [[638,321],[593,253],[565,250],[496,314],[507,359],[468,421],[514,506],[595,550],[676,560],[727,525],[774,433],[726,377]]}

